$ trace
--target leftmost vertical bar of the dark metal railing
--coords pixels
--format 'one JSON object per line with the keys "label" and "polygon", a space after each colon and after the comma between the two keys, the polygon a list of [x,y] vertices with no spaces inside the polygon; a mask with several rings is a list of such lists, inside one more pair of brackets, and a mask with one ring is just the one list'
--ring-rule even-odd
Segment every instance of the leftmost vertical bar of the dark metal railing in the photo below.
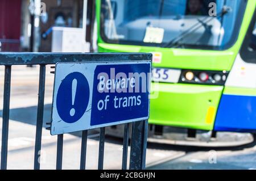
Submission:
{"label": "leftmost vertical bar of the dark metal railing", "polygon": [[10,92],[11,92],[11,65],[5,66],[5,83],[3,89],[3,123],[2,123],[2,148],[1,169],[7,169],[8,133],[10,116]]}

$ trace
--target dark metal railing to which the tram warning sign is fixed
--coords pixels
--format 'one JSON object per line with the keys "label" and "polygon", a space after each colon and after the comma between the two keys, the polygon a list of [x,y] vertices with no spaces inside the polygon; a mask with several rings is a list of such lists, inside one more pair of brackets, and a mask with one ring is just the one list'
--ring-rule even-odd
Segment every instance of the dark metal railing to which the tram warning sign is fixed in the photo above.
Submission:
{"label": "dark metal railing to which the tram warning sign is fixed", "polygon": [[[34,152],[34,169],[40,169],[40,150],[42,142],[43,113],[44,113],[44,90],[46,81],[46,65],[57,62],[85,62],[85,61],[120,61],[120,60],[151,60],[152,55],[147,53],[13,53],[0,52],[0,65],[5,66],[5,82],[3,91],[3,114],[2,114],[2,148],[1,169],[7,169],[7,148],[9,133],[10,114],[10,89],[11,89],[11,66],[12,65],[39,65],[39,92],[38,110],[36,117],[36,136]],[[137,170],[145,168],[147,146],[147,120],[130,123],[131,148],[129,169]],[[86,145],[88,131],[82,131],[80,169],[85,169]],[[104,144],[105,128],[100,129],[100,144],[98,153],[98,169],[104,169]],[[129,123],[125,125],[123,136],[122,169],[127,169],[127,155],[129,146]],[[62,168],[63,158],[63,134],[57,136],[56,169]]]}

